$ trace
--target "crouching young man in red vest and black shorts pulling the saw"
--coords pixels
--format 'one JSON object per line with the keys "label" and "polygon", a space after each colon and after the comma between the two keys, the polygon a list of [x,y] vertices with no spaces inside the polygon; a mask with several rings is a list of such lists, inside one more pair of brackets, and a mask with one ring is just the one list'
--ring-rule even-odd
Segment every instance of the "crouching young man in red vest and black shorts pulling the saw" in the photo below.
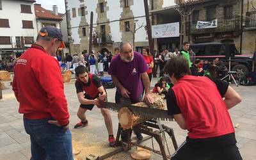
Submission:
{"label": "crouching young man in red vest and black shorts pulling the saw", "polygon": [[[81,119],[81,122],[77,123],[74,128],[84,127],[88,125],[88,120],[84,113],[87,109],[92,110],[93,106],[100,106],[101,102],[107,97],[106,91],[100,83],[99,77],[88,74],[88,71],[83,65],[79,65],[75,69],[76,71],[76,93],[79,102],[81,103],[77,116]],[[84,93],[85,92],[85,93]],[[105,124],[109,134],[109,145],[113,147],[115,145],[115,138],[113,136],[113,125],[111,116],[107,109],[100,108],[102,115],[104,116]]]}

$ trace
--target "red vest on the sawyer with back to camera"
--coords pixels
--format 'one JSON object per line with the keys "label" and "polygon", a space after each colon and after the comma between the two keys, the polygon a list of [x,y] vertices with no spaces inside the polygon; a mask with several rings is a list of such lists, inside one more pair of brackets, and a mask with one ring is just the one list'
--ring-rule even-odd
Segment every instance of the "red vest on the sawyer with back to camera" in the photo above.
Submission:
{"label": "red vest on the sawyer with back to camera", "polygon": [[189,138],[212,138],[235,132],[227,106],[210,79],[184,76],[172,89],[186,120]]}

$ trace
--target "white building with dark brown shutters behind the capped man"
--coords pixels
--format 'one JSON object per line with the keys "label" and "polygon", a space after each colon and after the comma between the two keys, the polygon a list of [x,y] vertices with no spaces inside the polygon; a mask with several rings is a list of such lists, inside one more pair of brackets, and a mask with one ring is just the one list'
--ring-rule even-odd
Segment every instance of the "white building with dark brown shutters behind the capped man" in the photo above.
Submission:
{"label": "white building with dark brown shutters behind the capped man", "polygon": [[33,44],[36,32],[34,0],[0,0],[0,58],[20,54]]}

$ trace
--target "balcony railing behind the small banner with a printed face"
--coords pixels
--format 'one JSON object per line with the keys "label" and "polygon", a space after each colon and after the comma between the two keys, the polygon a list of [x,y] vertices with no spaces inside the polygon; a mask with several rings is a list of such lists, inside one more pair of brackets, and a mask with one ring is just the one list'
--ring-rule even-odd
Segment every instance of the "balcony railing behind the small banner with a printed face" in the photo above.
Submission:
{"label": "balcony railing behind the small banner with a printed face", "polygon": [[[217,28],[196,29],[196,22],[187,22],[186,35],[196,35],[205,33],[218,33],[225,31],[239,31],[241,17],[239,15],[233,16],[232,19],[225,19],[224,17],[218,17]],[[207,21],[207,20],[201,20]]]}

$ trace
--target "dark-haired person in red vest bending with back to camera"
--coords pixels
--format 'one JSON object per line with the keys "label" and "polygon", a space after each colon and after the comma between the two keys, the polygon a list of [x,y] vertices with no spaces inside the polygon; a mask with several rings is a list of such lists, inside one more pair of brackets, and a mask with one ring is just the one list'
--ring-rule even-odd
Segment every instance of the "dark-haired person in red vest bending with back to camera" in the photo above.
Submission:
{"label": "dark-haired person in red vest bending with back to camera", "polygon": [[169,60],[164,71],[174,84],[166,95],[168,114],[188,130],[186,141],[171,159],[242,159],[228,113],[241,102],[238,93],[218,79],[190,76],[183,56]]}

